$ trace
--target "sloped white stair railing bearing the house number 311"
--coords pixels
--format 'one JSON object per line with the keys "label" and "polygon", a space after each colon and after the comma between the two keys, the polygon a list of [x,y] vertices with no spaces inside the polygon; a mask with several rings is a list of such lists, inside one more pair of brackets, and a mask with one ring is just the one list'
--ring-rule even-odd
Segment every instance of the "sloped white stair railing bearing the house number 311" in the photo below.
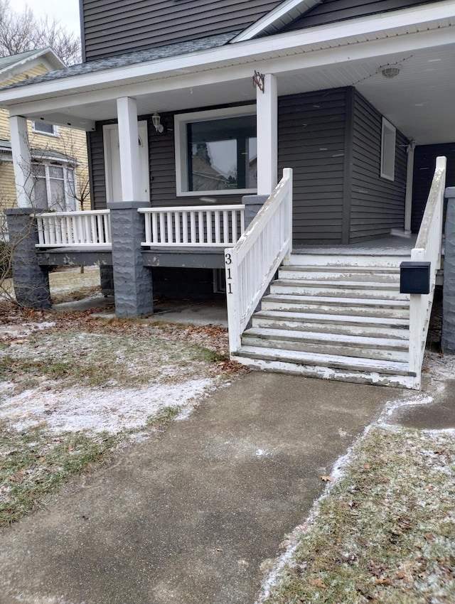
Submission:
{"label": "sloped white stair railing bearing the house number 311", "polygon": [[291,247],[292,170],[284,168],[282,180],[235,247],[225,249],[231,354],[240,349],[242,332],[279,265],[283,259],[289,263]]}

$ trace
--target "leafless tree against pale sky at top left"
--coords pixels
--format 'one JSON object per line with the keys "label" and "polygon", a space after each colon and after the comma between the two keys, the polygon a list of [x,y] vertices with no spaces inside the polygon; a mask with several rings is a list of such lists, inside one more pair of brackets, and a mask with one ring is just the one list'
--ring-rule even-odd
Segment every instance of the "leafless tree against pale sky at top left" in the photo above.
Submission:
{"label": "leafless tree against pale sky at top left", "polygon": [[50,46],[65,65],[80,63],[80,38],[55,18],[38,19],[29,6],[17,13],[9,0],[0,0],[0,57]]}

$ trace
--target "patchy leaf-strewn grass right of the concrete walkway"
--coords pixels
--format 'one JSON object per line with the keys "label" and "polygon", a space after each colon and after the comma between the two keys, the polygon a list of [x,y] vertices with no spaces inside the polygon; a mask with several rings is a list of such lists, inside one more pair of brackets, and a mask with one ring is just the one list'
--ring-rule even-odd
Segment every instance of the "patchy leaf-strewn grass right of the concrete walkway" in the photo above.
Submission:
{"label": "patchy leaf-strewn grass right of the concrete walkway", "polygon": [[455,602],[455,436],[374,428],[267,604]]}

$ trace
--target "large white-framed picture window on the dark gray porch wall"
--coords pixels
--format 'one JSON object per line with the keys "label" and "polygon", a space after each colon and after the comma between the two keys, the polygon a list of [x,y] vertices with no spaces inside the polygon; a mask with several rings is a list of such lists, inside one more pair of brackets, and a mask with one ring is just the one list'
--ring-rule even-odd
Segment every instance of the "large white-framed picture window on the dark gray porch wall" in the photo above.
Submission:
{"label": "large white-framed picture window on the dark gray porch wall", "polygon": [[256,192],[254,107],[180,114],[175,126],[178,195]]}

